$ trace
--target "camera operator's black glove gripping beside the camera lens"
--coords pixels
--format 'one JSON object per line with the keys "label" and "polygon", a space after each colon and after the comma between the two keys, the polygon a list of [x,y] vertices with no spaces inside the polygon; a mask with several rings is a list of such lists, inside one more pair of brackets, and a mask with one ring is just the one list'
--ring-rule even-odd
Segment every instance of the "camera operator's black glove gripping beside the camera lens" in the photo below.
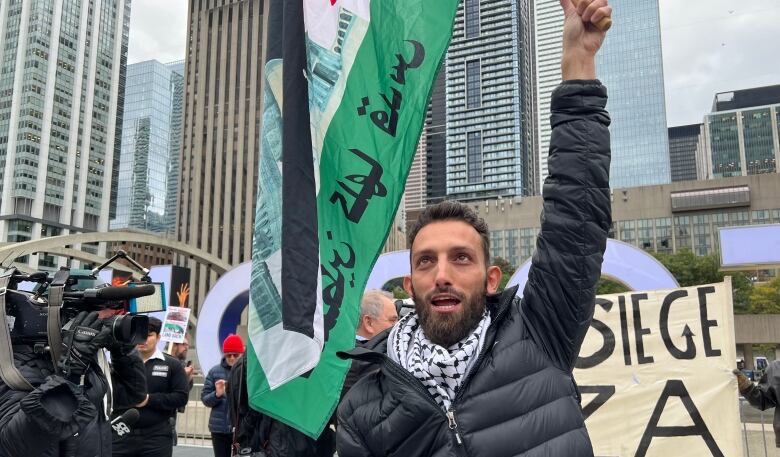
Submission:
{"label": "camera operator's black glove gripping beside the camera lens", "polygon": [[98,349],[111,340],[111,327],[103,325],[96,312],[82,311],[62,329],[65,349],[57,365],[66,378],[74,381],[83,376],[90,365],[97,364]]}

